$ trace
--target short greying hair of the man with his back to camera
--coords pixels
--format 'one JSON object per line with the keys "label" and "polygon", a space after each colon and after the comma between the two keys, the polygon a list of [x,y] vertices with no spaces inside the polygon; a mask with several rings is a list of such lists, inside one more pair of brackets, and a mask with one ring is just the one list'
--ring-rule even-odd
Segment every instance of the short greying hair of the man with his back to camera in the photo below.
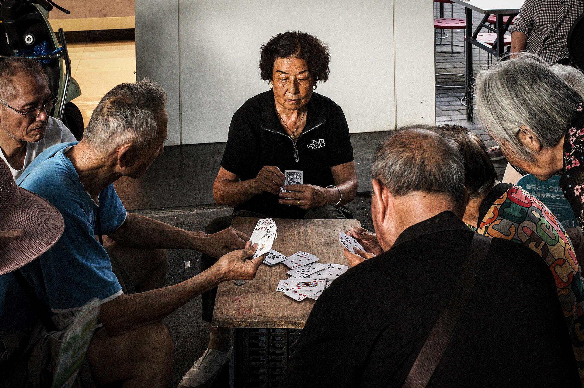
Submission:
{"label": "short greying hair of the man with his back to camera", "polygon": [[415,191],[449,194],[460,207],[464,199],[464,163],[456,143],[412,125],[390,131],[375,151],[371,178],[392,195]]}

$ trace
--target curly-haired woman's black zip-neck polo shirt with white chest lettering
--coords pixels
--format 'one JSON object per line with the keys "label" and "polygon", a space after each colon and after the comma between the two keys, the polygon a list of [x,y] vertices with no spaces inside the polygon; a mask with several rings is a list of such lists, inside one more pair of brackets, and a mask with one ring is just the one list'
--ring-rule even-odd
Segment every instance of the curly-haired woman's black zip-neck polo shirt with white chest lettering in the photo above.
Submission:
{"label": "curly-haired woman's black zip-neck polo shirt with white chest lettering", "polygon": [[[247,100],[233,115],[221,167],[244,181],[263,166],[302,170],[304,184],[335,184],[331,167],[353,160],[349,127],[343,110],[328,97],[312,93],[306,125],[296,145],[281,127],[272,90]],[[271,193],[254,195],[234,211],[248,210],[272,218],[303,218],[305,210],[281,205]]]}

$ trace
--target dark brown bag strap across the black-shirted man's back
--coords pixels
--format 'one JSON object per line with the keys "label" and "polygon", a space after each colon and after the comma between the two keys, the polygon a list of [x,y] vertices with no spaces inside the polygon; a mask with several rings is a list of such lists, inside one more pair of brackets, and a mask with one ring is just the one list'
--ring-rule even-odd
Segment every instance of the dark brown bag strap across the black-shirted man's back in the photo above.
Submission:
{"label": "dark brown bag strap across the black-shirted man's back", "polygon": [[404,388],[425,387],[432,377],[464,312],[464,307],[470,299],[490,246],[491,238],[478,233],[472,237],[467,258],[460,271],[460,278],[458,278],[454,288],[454,294],[444,307],[443,312],[440,313],[420,354],[418,354],[418,358],[413,363],[412,369],[406,377]]}

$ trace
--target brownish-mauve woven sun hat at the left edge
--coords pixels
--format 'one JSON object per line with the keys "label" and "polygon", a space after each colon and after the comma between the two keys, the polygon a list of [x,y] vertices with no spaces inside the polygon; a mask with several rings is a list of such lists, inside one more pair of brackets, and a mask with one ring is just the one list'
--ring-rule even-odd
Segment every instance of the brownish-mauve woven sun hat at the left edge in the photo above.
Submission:
{"label": "brownish-mauve woven sun hat at the left edge", "polygon": [[22,229],[20,237],[0,238],[0,275],[22,267],[45,253],[61,237],[64,222],[61,213],[47,200],[22,187],[19,201],[0,230]]}

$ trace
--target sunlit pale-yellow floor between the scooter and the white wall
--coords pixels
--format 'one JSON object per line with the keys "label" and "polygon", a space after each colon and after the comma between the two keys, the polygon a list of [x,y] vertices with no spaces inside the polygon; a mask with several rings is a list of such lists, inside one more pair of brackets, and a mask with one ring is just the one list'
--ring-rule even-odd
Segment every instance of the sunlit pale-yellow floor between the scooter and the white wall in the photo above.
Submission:
{"label": "sunlit pale-yellow floor between the scooter and the white wall", "polygon": [[71,75],[79,83],[81,96],[73,102],[85,125],[99,100],[114,86],[136,81],[134,41],[70,43]]}

